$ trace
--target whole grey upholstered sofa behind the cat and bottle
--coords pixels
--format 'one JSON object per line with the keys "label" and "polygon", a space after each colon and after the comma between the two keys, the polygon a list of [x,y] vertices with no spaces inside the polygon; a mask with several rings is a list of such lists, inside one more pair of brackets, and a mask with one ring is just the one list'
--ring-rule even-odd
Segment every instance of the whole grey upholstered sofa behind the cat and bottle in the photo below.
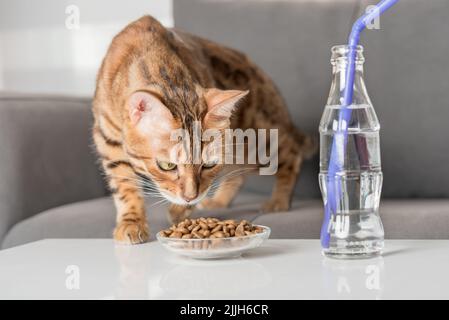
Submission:
{"label": "whole grey upholstered sofa behind the cat and bottle", "polygon": [[[330,47],[345,42],[360,1],[175,0],[177,27],[246,52],[274,78],[298,127],[317,135]],[[449,239],[449,2],[403,0],[367,31],[368,92],[382,125],[381,216],[387,238]],[[90,100],[0,95],[0,243],[108,238],[114,207],[92,152]],[[274,238],[317,238],[318,158],[307,162],[293,209],[260,214],[270,178],[250,179],[233,208],[196,215],[246,218]],[[149,207],[151,199],[148,199]],[[152,235],[165,206],[148,209]]]}

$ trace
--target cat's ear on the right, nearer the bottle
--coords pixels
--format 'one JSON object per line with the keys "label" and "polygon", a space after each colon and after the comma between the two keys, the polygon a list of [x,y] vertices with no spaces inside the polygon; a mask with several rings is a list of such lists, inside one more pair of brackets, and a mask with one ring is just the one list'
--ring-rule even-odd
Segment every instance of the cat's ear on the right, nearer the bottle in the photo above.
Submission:
{"label": "cat's ear on the right, nearer the bottle", "polygon": [[204,117],[206,126],[218,129],[228,127],[237,102],[248,93],[249,91],[206,89],[204,93],[207,104],[207,113]]}

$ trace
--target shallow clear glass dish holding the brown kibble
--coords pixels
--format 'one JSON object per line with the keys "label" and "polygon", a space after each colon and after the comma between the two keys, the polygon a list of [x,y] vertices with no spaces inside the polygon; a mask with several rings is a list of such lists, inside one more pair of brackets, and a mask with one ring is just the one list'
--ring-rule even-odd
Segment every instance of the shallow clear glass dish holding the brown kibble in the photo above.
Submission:
{"label": "shallow clear glass dish holding the brown kibble", "polygon": [[245,251],[259,247],[270,237],[271,229],[265,226],[257,226],[263,229],[260,233],[243,237],[228,237],[215,239],[179,239],[163,237],[157,233],[157,240],[174,253],[194,259],[220,259],[238,257]]}

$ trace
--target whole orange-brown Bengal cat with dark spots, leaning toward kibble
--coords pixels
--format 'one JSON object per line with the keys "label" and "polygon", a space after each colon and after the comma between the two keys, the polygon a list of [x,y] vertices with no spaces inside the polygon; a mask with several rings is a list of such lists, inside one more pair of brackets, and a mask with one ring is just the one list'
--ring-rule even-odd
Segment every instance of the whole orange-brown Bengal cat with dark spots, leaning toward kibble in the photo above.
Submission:
{"label": "whole orange-brown Bengal cat with dark spots, leaning toward kibble", "polygon": [[220,132],[278,129],[276,182],[264,211],[289,209],[302,161],[314,149],[293,126],[272,80],[247,56],[150,16],[114,37],[98,73],[93,114],[117,210],[114,238],[126,244],[148,240],[145,195],[169,200],[169,220],[177,222],[197,204],[228,206],[251,171],[207,155],[202,163],[179,161],[186,155],[176,150],[173,130],[192,132],[195,122]]}

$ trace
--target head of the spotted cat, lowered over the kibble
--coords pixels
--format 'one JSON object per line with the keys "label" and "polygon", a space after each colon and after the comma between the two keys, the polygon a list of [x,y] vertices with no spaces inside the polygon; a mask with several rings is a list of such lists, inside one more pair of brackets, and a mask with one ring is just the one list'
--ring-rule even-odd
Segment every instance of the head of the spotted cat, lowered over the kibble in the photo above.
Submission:
{"label": "head of the spotted cat, lowered over the kibble", "polygon": [[[200,89],[196,106],[174,114],[156,93],[134,92],[127,101],[124,140],[135,171],[150,178],[157,192],[172,203],[199,202],[224,168],[224,139],[214,136],[206,139],[210,141],[201,141],[201,136],[217,132],[223,135],[237,102],[247,93]],[[194,140],[198,131],[200,148],[198,140]],[[181,139],[182,132],[188,137]],[[200,154],[195,154],[196,150]]]}

